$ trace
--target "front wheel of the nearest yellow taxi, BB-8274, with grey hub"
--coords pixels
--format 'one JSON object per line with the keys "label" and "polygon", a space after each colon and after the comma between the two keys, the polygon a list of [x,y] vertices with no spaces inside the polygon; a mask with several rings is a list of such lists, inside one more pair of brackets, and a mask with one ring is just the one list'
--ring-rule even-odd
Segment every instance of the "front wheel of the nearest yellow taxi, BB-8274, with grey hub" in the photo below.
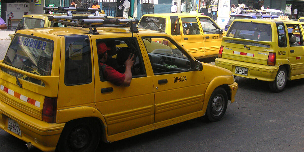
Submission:
{"label": "front wheel of the nearest yellow taxi, BB-8274, with grey hub", "polygon": [[223,88],[216,88],[209,99],[204,118],[209,122],[219,121],[227,109],[228,97]]}

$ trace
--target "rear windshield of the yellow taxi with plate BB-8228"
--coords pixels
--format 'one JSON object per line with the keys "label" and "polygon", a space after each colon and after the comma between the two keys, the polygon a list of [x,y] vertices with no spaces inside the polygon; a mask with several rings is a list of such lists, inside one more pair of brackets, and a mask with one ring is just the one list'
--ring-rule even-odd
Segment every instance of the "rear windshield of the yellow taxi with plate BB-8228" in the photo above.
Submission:
{"label": "rear windshield of the yellow taxi with plate BB-8228", "polygon": [[271,26],[254,22],[234,22],[226,36],[247,40],[271,41]]}

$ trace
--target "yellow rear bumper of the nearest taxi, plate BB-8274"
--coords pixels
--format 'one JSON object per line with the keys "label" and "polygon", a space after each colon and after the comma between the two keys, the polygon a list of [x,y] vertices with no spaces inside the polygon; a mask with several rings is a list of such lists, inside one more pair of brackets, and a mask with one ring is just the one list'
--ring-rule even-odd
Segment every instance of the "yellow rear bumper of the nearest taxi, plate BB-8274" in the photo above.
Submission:
{"label": "yellow rear bumper of the nearest taxi, plate BB-8274", "polygon": [[[8,130],[8,117],[19,124],[21,136]],[[42,151],[55,151],[64,125],[65,123],[46,123],[29,116],[6,104],[0,97],[0,128]]]}

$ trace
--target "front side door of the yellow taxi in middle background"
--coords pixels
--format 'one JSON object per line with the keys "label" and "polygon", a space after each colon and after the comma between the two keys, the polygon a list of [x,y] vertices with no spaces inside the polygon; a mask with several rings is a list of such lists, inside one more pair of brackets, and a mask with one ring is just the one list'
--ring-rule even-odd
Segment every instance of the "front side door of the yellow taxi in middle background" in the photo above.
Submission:
{"label": "front side door of the yellow taxi in middle background", "polygon": [[219,26],[207,17],[199,17],[199,23],[202,28],[204,38],[204,55],[208,56],[218,54],[223,38],[223,34]]}

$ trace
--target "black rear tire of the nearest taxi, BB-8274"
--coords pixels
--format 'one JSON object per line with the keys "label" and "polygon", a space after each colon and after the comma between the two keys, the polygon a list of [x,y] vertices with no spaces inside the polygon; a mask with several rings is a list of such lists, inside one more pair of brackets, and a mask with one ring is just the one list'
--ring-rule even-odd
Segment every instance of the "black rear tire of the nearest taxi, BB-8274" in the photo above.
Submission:
{"label": "black rear tire of the nearest taxi, BB-8274", "polygon": [[100,126],[95,119],[72,120],[64,126],[57,143],[59,152],[94,152],[100,140]]}

